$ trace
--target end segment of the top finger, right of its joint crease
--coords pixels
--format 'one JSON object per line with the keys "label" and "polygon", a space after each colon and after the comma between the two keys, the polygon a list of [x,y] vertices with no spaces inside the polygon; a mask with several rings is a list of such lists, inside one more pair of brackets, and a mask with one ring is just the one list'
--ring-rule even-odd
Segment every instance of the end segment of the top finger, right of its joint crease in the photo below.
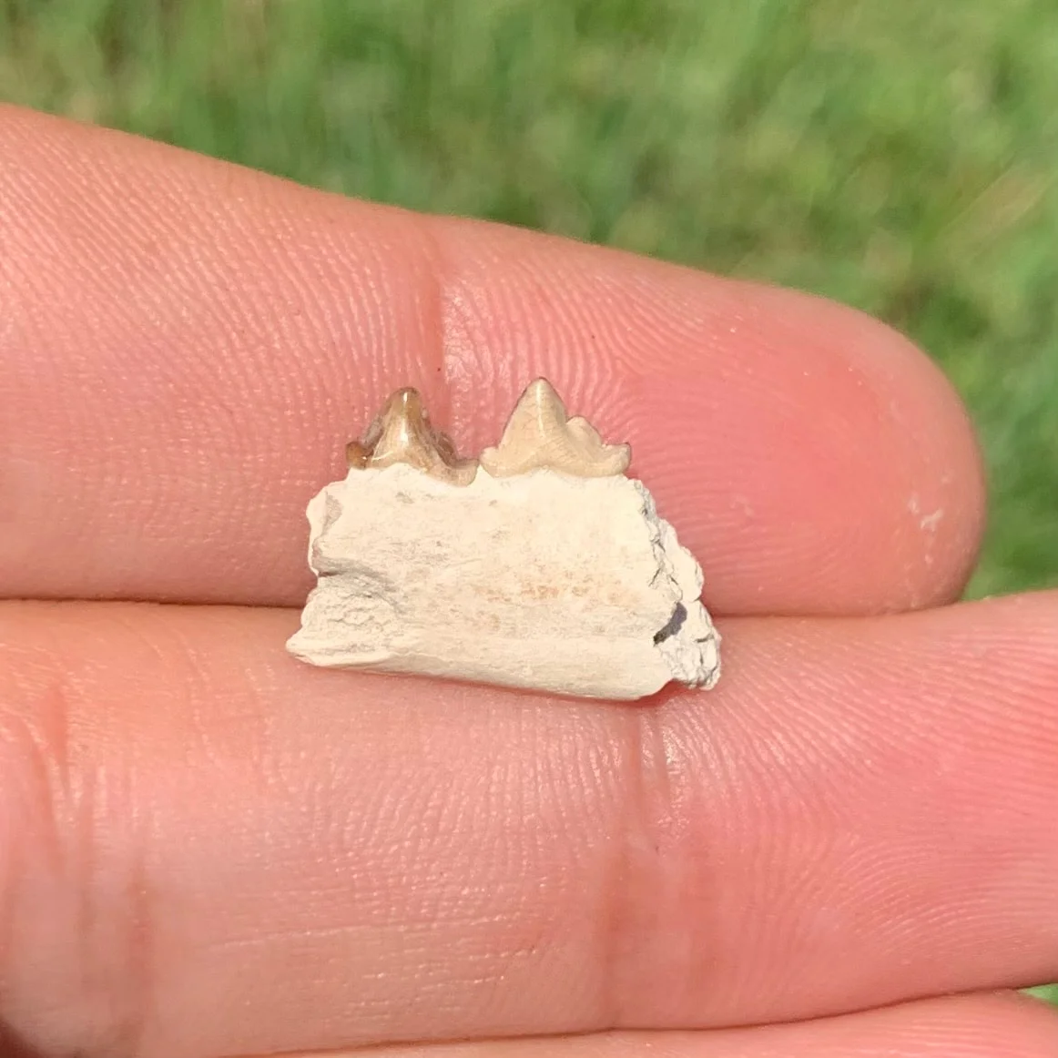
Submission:
{"label": "end segment of the top finger, right of its joint crease", "polygon": [[456,219],[445,370],[471,443],[546,375],[628,441],[719,613],[959,596],[984,521],[957,394],[909,339],[797,291]]}

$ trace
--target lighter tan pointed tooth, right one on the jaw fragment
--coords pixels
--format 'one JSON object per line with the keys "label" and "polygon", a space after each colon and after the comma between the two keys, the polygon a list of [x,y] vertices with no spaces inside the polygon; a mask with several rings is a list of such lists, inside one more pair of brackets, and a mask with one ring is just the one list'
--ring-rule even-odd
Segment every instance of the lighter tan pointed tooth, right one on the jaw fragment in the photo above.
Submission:
{"label": "lighter tan pointed tooth, right one on the jaw fragment", "polygon": [[514,405],[499,443],[481,453],[481,466],[493,477],[544,469],[609,477],[623,474],[631,456],[627,444],[604,444],[587,419],[568,418],[551,383],[536,379]]}

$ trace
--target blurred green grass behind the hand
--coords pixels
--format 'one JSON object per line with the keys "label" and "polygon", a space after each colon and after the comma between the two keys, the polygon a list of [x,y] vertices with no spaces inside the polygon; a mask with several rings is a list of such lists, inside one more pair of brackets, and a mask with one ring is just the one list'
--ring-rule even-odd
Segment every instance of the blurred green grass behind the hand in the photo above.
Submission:
{"label": "blurred green grass behind the hand", "polygon": [[0,98],[865,309],[980,430],[970,594],[1058,584],[1053,0],[0,0]]}

